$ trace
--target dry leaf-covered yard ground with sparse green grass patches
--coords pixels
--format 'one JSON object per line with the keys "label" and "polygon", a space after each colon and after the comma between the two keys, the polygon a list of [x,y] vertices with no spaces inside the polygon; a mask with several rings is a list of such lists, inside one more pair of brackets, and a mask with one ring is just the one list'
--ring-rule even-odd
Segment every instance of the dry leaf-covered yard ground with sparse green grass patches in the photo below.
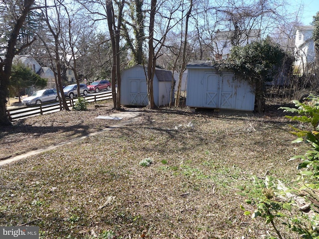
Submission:
{"label": "dry leaf-covered yard ground with sparse green grass patches", "polygon": [[[140,109],[142,118],[128,125],[3,165],[0,225],[39,226],[43,239],[274,235],[243,215],[236,186],[252,174],[294,178],[297,162],[288,159],[305,148],[291,144],[280,104],[263,115]],[[102,105],[15,122],[0,132],[1,158],[116,124],[95,119],[116,112]],[[143,167],[146,158],[152,164]]]}

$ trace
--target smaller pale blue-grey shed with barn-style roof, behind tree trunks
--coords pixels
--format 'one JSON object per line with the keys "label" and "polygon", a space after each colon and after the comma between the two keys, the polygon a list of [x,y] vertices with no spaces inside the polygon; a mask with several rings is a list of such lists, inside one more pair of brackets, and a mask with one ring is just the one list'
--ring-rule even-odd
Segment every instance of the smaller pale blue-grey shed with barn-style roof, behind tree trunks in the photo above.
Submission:
{"label": "smaller pale blue-grey shed with barn-style roof, behind tree trunks", "polygon": [[[146,83],[147,67],[136,65],[125,69],[121,74],[121,104],[126,106],[147,106],[149,104]],[[156,106],[169,104],[171,90],[171,71],[156,68],[153,81],[154,102]]]}

